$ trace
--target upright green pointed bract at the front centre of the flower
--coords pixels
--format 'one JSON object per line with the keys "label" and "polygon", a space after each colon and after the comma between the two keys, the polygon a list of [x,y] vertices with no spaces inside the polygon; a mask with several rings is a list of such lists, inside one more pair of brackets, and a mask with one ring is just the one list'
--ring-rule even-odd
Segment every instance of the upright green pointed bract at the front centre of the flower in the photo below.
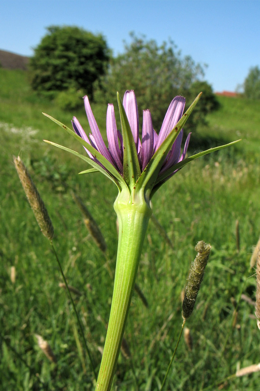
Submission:
{"label": "upright green pointed bract at the front centre of the flower", "polygon": [[117,102],[118,102],[119,113],[120,113],[123,145],[124,145],[124,155],[123,155],[124,156],[123,158],[124,179],[127,185],[129,185],[130,188],[133,189],[136,180],[139,178],[141,174],[141,170],[140,170],[133,134],[127,119],[126,111],[124,109],[122,100],[119,96],[119,93],[117,93]]}

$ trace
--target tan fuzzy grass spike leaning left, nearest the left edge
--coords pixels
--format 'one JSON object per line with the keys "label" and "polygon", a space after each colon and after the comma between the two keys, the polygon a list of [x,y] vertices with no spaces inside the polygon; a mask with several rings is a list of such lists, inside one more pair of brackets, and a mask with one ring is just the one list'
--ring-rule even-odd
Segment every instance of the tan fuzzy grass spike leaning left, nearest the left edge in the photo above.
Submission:
{"label": "tan fuzzy grass spike leaning left, nearest the left edge", "polygon": [[16,156],[13,156],[13,159],[23,190],[25,191],[29,204],[34,212],[37,223],[39,224],[43,235],[49,240],[52,240],[54,229],[44,202],[20,157],[18,156],[18,158],[16,158]]}

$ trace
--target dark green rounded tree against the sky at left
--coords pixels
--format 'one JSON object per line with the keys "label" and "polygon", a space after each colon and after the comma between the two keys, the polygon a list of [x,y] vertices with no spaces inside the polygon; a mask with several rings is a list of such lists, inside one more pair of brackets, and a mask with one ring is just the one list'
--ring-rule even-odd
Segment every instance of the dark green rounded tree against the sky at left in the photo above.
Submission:
{"label": "dark green rounded tree against the sky at left", "polygon": [[108,64],[104,37],[71,26],[50,26],[47,30],[30,60],[32,88],[51,94],[73,86],[91,97],[93,83]]}

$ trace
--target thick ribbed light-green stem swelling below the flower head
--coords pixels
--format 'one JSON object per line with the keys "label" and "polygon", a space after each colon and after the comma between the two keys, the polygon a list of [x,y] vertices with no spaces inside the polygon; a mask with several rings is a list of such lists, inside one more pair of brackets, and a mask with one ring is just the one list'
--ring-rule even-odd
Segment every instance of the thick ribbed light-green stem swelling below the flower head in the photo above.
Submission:
{"label": "thick ribbed light-green stem swelling below the flower head", "polygon": [[121,192],[114,204],[119,220],[119,241],[113,297],[96,390],[110,390],[131,303],[134,282],[152,214],[151,204],[132,192]]}

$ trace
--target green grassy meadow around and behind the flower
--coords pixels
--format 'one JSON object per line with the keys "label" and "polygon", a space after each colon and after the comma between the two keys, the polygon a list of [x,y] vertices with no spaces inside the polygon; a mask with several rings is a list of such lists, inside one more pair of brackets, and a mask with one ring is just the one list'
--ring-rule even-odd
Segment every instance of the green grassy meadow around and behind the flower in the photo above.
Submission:
{"label": "green grassy meadow around and behind the flower", "polygon": [[[48,209],[64,274],[79,291],[73,297],[96,371],[113,290],[117,189],[101,174],[78,175],[89,167],[42,142],[83,153],[42,115],[68,126],[76,115],[87,130],[83,104],[77,112],[58,109],[30,91],[24,71],[0,69],[0,80],[0,389],[91,390],[95,379],[71,302],[59,286],[55,256],[35,221],[12,155],[21,156]],[[181,294],[199,240],[210,243],[212,251],[186,322],[193,346],[181,339],[165,389],[259,387],[259,372],[235,373],[259,362],[260,332],[249,303],[255,300],[255,270],[249,260],[260,235],[260,104],[242,97],[218,99],[221,108],[191,136],[189,155],[242,141],[187,165],[155,195],[159,225],[149,222],[136,280],[148,305],[134,292],[124,334],[128,351],[119,356],[113,390],[160,388],[182,325]],[[92,108],[104,134],[106,106]],[[106,251],[84,225],[73,192],[99,225]],[[35,334],[48,341],[56,363],[44,355]]]}

